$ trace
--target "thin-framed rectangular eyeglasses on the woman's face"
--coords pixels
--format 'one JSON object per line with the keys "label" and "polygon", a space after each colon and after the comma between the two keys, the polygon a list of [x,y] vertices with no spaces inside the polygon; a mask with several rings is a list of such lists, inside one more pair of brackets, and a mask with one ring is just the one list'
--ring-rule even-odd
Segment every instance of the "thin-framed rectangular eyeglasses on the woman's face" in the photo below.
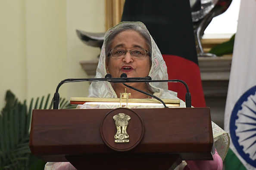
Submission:
{"label": "thin-framed rectangular eyeglasses on the woman's face", "polygon": [[126,52],[130,52],[132,58],[145,58],[149,53],[145,49],[136,50],[122,50],[122,49],[111,49],[110,54],[112,58],[124,58]]}

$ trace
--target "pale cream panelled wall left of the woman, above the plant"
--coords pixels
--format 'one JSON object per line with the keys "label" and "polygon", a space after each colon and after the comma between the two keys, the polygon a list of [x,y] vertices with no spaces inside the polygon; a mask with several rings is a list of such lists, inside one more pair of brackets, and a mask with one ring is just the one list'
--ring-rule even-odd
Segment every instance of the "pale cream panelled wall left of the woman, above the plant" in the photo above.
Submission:
{"label": "pale cream panelled wall left of the woman, above the plant", "polygon": [[[19,100],[50,93],[62,79],[87,78],[79,61],[100,49],[75,29],[104,32],[103,0],[0,0],[0,109],[10,89]],[[88,83],[63,85],[61,97],[85,97]],[[75,85],[76,84],[76,85]]]}

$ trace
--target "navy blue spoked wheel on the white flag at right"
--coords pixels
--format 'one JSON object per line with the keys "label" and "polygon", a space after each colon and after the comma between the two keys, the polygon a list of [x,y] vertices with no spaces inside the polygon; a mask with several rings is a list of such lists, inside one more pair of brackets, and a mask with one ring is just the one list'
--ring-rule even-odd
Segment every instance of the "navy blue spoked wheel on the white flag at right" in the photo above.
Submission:
{"label": "navy blue spoked wheel on the white flag at right", "polygon": [[237,100],[231,112],[230,135],[239,155],[256,167],[256,86]]}

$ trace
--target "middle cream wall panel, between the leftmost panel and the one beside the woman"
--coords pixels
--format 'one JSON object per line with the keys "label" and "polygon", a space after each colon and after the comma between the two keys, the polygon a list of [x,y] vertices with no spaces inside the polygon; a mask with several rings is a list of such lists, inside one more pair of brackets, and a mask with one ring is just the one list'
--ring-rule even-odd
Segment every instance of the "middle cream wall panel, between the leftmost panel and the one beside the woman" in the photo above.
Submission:
{"label": "middle cream wall panel, between the leftmost panel and the one beside the woman", "polygon": [[26,28],[28,98],[53,96],[67,74],[66,1],[27,0]]}

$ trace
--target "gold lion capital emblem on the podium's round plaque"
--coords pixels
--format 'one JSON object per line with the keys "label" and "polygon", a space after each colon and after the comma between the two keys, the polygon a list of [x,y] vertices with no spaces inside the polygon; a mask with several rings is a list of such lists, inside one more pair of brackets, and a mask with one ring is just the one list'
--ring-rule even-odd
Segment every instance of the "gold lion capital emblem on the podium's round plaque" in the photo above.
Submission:
{"label": "gold lion capital emblem on the podium's round plaque", "polygon": [[129,135],[127,134],[127,126],[131,119],[130,116],[126,115],[125,113],[118,113],[117,115],[113,116],[116,124],[116,135],[115,135],[115,142],[116,143],[128,143],[129,142]]}

